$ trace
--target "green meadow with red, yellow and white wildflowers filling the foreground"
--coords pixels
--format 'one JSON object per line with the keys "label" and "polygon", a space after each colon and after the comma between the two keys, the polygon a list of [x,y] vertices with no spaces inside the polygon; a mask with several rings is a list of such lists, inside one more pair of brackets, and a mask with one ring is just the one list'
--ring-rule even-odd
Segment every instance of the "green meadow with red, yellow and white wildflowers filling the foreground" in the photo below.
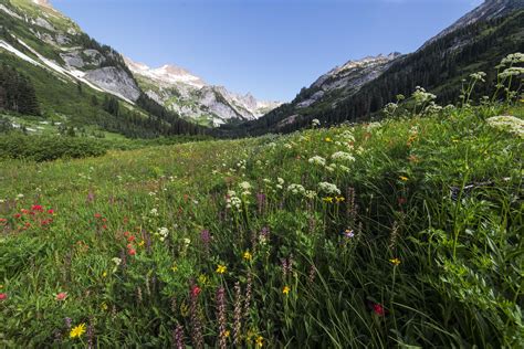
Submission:
{"label": "green meadow with red, yellow and white wildflowers filling the foreground", "polygon": [[520,348],[524,103],[421,110],[0,162],[0,346]]}

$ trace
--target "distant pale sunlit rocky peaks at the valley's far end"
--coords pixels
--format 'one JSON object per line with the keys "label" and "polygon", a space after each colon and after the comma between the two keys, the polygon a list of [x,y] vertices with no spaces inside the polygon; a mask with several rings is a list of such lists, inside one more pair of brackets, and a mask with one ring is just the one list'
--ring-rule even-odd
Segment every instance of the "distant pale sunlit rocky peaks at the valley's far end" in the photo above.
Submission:
{"label": "distant pale sunlit rocky peaks at the valley's far end", "polygon": [[258,101],[251,94],[231,93],[223,86],[209,85],[175,65],[150,68],[130,59],[126,59],[126,63],[149,97],[182,117],[205,125],[253,120],[281,105],[279,102]]}

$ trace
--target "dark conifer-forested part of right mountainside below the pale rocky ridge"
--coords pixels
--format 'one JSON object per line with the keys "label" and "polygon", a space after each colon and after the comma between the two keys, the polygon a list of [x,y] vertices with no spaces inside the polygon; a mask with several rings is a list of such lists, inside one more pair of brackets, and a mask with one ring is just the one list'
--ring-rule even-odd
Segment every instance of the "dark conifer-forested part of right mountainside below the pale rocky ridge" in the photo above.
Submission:
{"label": "dark conifer-forested part of right mountainside below the pale rocky ridge", "polygon": [[[292,131],[319,119],[324,125],[369,119],[396,96],[410,95],[416,86],[436,93],[441,104],[459,101],[461,80],[484,71],[488,84],[475,96],[490,94],[496,76],[494,66],[505,55],[524,52],[524,11],[491,21],[480,21],[430,42],[419,51],[399,57],[379,77],[355,94],[335,95],[311,107],[296,107],[297,99],[239,128],[223,127],[224,134],[260,135]],[[314,93],[314,92],[303,92]]]}

